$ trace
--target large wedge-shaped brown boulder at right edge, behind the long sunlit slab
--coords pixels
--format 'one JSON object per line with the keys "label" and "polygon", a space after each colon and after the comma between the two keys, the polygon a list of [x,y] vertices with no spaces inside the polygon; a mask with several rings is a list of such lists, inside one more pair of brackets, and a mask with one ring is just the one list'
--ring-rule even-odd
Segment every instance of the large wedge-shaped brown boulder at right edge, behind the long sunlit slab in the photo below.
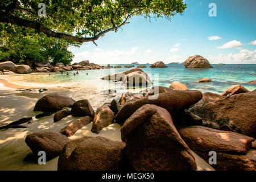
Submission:
{"label": "large wedge-shaped brown boulder at right edge, behind the long sunlit slab", "polygon": [[229,126],[237,133],[256,137],[256,90],[235,94],[189,109],[204,122]]}

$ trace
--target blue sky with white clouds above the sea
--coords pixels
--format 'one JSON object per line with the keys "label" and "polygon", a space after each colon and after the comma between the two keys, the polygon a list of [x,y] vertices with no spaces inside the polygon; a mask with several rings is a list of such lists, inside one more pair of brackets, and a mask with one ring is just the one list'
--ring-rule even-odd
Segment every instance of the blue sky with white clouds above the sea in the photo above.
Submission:
{"label": "blue sky with white clouds above the sea", "polygon": [[[211,64],[256,64],[255,0],[185,2],[187,9],[171,21],[134,16],[117,33],[112,31],[98,39],[98,46],[88,42],[80,48],[69,47],[75,55],[72,63],[168,64],[201,55]],[[210,3],[215,3],[216,11]],[[209,11],[214,16],[209,16]]]}

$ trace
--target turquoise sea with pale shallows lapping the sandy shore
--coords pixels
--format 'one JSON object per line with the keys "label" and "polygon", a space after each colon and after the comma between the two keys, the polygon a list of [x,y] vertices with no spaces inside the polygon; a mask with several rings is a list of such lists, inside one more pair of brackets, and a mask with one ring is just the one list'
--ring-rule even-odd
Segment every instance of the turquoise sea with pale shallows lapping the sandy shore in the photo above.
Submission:
{"label": "turquoise sea with pale shallows lapping the sandy shore", "polygon": [[[123,67],[124,65],[121,66]],[[183,84],[188,84],[186,85],[188,89],[197,89],[201,92],[222,93],[235,84],[241,84],[249,90],[256,89],[256,85],[246,83],[256,80],[256,64],[241,64],[238,67],[232,64],[213,65],[213,69],[188,69],[184,65],[178,64],[169,64],[168,68],[150,68],[149,64],[146,66],[147,68],[142,68],[142,70],[150,76],[154,83],[151,86],[169,87],[173,81],[180,81]],[[32,73],[29,75],[8,76],[7,79],[10,82],[28,86],[67,88],[73,91],[75,99],[90,97],[92,100],[104,102],[120,96],[123,92],[127,92],[127,88],[121,82],[105,81],[101,80],[101,77],[127,69],[129,68],[79,71],[80,74],[76,76],[73,76],[74,71],[69,71],[69,76],[65,75],[67,72],[63,76],[60,73],[53,72],[51,72],[51,76],[49,76],[49,73]],[[212,82],[195,82],[201,78],[210,78]],[[109,94],[104,93],[106,89],[115,89],[117,93],[112,94],[110,97]],[[137,88],[129,91],[137,92],[143,89]]]}

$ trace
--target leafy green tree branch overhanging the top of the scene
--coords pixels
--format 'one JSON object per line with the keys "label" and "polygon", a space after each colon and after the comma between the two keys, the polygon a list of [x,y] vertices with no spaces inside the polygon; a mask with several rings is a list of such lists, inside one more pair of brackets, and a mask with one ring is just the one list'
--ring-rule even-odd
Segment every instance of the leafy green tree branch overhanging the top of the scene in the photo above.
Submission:
{"label": "leafy green tree branch overhanging the top of the scene", "polygon": [[[117,31],[133,16],[170,19],[186,8],[183,0],[0,1],[0,22],[80,43],[94,42],[107,32]],[[38,16],[39,3],[46,4],[46,16]]]}

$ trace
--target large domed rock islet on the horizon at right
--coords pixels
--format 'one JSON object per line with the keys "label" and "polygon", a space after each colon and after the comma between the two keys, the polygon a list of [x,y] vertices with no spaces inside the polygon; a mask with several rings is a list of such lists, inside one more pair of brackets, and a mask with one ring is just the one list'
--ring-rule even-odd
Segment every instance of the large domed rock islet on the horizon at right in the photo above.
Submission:
{"label": "large domed rock islet on the horizon at right", "polygon": [[213,68],[207,59],[199,55],[188,57],[184,65],[186,68]]}

